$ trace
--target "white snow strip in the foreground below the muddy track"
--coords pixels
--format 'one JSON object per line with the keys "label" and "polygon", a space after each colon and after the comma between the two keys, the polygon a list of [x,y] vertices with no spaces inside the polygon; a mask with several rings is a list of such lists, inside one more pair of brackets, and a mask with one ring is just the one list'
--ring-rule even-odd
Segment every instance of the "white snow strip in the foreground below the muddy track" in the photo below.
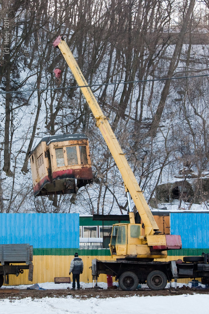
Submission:
{"label": "white snow strip in the foreground below the muddy track", "polygon": [[87,300],[67,298],[25,298],[0,300],[1,314],[193,314],[208,312],[209,295],[132,296]]}

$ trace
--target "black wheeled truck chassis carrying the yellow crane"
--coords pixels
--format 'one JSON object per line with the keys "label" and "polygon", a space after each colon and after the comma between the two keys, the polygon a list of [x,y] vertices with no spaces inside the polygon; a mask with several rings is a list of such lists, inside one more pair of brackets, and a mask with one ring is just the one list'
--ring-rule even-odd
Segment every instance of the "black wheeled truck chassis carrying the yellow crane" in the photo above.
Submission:
{"label": "black wheeled truck chassis carrying the yellow crane", "polygon": [[168,281],[174,279],[201,278],[202,284],[209,284],[209,253],[202,256],[185,256],[182,260],[157,262],[118,259],[116,261],[92,260],[93,287],[100,274],[107,274],[118,280],[122,290],[131,291],[138,284],[147,283],[151,290],[162,290]]}

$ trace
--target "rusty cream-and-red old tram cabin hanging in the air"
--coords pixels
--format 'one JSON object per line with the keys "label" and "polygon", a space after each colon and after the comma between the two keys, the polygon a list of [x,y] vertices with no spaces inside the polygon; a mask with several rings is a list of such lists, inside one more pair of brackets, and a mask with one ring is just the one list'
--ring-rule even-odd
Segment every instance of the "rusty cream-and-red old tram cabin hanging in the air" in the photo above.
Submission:
{"label": "rusty cream-and-red old tram cabin hanging in the air", "polygon": [[76,193],[92,181],[85,134],[44,137],[30,152],[34,196]]}

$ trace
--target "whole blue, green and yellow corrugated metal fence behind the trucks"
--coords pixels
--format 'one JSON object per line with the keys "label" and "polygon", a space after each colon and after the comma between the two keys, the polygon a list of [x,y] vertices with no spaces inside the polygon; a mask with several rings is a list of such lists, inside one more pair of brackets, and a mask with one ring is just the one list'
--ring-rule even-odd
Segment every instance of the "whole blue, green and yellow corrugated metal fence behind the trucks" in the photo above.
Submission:
{"label": "whole blue, green and yellow corrugated metal fence behind the trucks", "polygon": [[[0,214],[0,244],[29,243],[34,247],[34,281],[53,281],[69,276],[69,268],[79,247],[79,214]],[[167,260],[209,252],[209,214],[170,214],[171,234],[181,235],[182,250],[168,251]],[[109,249],[80,249],[84,261],[81,281],[91,282],[91,260],[109,260]],[[27,284],[28,272],[10,276],[10,284]],[[71,278],[72,279],[72,278]],[[185,279],[183,279],[186,282]],[[106,276],[99,277],[106,281]]]}

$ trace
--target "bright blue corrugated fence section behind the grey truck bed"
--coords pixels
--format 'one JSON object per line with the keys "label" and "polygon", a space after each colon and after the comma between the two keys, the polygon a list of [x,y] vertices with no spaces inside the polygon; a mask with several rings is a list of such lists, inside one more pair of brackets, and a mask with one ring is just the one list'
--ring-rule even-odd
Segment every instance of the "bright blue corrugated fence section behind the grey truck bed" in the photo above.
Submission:
{"label": "bright blue corrugated fence section behind the grey truck bed", "polygon": [[0,244],[78,248],[79,214],[0,214]]}

